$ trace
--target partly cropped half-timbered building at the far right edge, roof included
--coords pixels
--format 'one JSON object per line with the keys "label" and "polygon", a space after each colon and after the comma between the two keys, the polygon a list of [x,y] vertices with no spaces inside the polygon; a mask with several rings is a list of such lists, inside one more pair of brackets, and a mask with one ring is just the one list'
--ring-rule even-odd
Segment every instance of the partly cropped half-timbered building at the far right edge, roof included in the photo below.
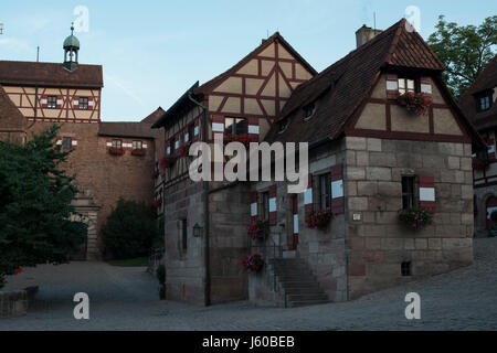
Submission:
{"label": "partly cropped half-timbered building at the far right edge, roof included", "polygon": [[[459,105],[487,143],[474,160],[475,234],[487,236],[493,228],[490,215],[497,211],[497,56],[482,71],[461,96]],[[494,228],[495,225],[494,225]],[[495,231],[493,232],[495,233]]]}

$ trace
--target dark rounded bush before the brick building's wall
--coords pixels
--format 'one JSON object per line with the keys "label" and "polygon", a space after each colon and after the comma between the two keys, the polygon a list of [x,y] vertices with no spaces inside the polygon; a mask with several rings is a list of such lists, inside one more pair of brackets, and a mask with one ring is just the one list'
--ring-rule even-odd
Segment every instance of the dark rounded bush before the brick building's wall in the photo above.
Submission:
{"label": "dark rounded bush before the brick building's wall", "polygon": [[120,197],[102,226],[106,256],[126,259],[147,256],[158,238],[152,206]]}

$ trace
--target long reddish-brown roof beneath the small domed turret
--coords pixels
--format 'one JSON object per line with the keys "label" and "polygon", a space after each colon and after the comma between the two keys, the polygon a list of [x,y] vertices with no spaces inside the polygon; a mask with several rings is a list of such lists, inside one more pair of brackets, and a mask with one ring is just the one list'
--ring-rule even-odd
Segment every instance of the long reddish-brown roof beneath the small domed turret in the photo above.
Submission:
{"label": "long reddish-brown roof beneath the small domed turret", "polygon": [[0,61],[0,84],[101,88],[102,65],[80,64],[68,72],[61,63]]}

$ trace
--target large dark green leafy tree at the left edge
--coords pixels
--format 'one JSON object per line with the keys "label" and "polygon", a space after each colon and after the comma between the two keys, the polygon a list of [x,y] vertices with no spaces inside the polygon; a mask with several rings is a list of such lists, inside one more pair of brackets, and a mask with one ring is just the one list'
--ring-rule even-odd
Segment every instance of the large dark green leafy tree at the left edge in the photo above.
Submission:
{"label": "large dark green leafy tree at the left edge", "polygon": [[71,152],[55,146],[59,129],[25,145],[0,141],[0,285],[20,267],[67,263],[86,235],[72,217],[77,188],[61,165]]}

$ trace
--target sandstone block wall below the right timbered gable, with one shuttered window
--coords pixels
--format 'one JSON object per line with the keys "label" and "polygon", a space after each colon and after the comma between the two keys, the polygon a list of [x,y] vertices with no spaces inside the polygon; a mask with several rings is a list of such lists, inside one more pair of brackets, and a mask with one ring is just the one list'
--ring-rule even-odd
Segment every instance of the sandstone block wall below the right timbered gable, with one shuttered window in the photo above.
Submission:
{"label": "sandstone block wall below the right timbered gable, with one shuttered window", "polygon": [[[347,137],[346,148],[351,299],[472,264],[470,145]],[[434,224],[422,231],[398,221],[402,175],[435,178]],[[401,276],[403,261],[411,277]]]}

